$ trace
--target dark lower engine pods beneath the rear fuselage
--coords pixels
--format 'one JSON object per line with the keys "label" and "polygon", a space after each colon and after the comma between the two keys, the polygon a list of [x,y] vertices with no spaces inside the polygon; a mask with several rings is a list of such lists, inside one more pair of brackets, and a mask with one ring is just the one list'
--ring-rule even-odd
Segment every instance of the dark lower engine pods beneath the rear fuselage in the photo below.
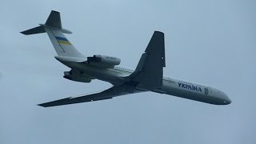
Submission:
{"label": "dark lower engine pods beneath the rear fuselage", "polygon": [[66,79],[69,79],[69,80],[75,81],[75,82],[91,82],[91,79],[92,79],[92,78],[90,78],[84,74],[80,74],[79,72],[76,72],[74,70],[64,71],[63,78],[66,78]]}

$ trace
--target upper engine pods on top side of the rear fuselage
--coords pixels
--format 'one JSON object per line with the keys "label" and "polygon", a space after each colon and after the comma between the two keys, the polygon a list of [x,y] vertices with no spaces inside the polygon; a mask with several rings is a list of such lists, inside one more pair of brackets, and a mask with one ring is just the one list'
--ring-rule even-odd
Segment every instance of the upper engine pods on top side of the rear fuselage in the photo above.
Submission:
{"label": "upper engine pods on top side of the rear fuselage", "polygon": [[115,65],[119,65],[121,63],[121,59],[98,54],[93,57],[87,57],[87,62],[94,66],[110,68]]}

